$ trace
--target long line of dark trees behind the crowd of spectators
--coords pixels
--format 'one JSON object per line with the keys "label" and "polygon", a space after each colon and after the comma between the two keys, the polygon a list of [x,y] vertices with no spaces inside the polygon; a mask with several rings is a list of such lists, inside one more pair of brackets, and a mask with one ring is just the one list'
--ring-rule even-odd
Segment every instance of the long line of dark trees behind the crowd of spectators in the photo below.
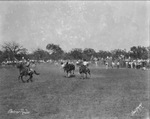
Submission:
{"label": "long line of dark trees behind the crowd of spectators", "polygon": [[96,52],[92,48],[74,48],[69,52],[65,52],[57,44],[47,44],[46,50],[37,48],[32,53],[28,53],[28,50],[19,43],[12,41],[1,45],[0,49],[0,63],[3,61],[15,61],[21,60],[22,57],[25,59],[33,60],[93,60],[94,58],[107,58],[112,57],[113,59],[118,58],[131,58],[131,59],[148,59],[150,56],[150,46],[132,46],[129,51],[122,49],[114,49],[112,51],[99,50]]}

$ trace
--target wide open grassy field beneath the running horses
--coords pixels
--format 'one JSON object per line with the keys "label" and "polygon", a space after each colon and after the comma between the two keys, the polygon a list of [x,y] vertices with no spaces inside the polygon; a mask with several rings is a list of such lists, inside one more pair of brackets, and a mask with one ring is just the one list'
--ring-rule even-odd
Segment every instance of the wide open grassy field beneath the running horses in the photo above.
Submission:
{"label": "wide open grassy field beneath the running horses", "polygon": [[35,70],[22,83],[15,67],[0,68],[0,119],[149,119],[149,71],[91,67],[80,79],[78,68],[72,78],[51,64]]}

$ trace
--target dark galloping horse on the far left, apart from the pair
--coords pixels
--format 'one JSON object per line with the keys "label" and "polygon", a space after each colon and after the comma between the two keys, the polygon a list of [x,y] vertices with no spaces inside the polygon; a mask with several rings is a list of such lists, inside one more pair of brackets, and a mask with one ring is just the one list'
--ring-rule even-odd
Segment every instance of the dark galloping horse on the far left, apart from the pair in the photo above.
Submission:
{"label": "dark galloping horse on the far left, apart from the pair", "polygon": [[33,69],[30,69],[29,67],[26,67],[23,63],[17,64],[17,68],[19,69],[19,72],[20,72],[18,79],[21,78],[23,83],[25,83],[25,81],[23,80],[23,76],[29,76],[29,79],[27,80],[27,82],[29,81],[33,82],[32,80],[33,74],[39,75],[39,73],[37,73]]}

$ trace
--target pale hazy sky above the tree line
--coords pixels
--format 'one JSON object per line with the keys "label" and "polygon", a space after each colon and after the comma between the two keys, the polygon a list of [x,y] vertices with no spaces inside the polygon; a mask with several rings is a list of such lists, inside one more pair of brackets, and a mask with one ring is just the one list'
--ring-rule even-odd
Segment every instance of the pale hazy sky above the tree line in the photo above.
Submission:
{"label": "pale hazy sky above the tree line", "polygon": [[99,50],[149,45],[148,1],[0,1],[0,45]]}

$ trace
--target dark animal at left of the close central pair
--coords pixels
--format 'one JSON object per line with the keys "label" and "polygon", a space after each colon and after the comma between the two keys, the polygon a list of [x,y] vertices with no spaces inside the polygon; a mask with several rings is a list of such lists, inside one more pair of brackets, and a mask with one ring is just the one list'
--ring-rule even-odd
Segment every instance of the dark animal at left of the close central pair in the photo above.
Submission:
{"label": "dark animal at left of the close central pair", "polygon": [[68,74],[70,73],[71,74],[71,72],[73,71],[73,75],[74,75],[74,71],[75,71],[75,65],[74,64],[69,64],[68,62],[64,65],[64,72],[66,72],[67,73],[67,77],[69,77],[68,76]]}

